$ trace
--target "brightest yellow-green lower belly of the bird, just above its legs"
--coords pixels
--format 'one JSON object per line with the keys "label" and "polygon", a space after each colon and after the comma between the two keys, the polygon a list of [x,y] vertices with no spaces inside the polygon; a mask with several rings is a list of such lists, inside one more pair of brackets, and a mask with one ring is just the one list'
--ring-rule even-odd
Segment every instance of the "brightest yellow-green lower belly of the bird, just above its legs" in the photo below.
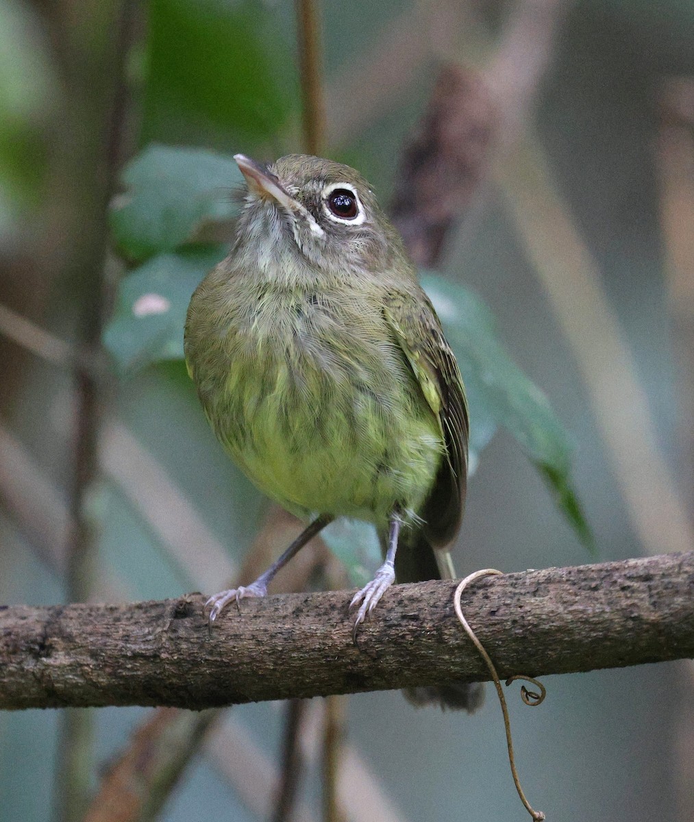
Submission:
{"label": "brightest yellow-green lower belly of the bird, just above its legs", "polygon": [[299,513],[377,522],[396,506],[419,510],[441,459],[428,408],[414,408],[399,386],[384,403],[346,382],[302,396],[288,389],[284,369],[275,376],[275,390],[262,399],[252,375],[229,381],[246,400],[234,416],[238,427],[225,426],[224,436],[266,494]]}

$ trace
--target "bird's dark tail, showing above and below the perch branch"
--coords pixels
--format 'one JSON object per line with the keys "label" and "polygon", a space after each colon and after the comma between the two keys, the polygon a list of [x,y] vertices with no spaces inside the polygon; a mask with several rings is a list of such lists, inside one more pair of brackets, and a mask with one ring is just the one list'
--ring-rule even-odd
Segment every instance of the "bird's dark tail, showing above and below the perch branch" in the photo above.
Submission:
{"label": "bird's dark tail, showing above and below the perch branch", "polygon": [[[396,553],[396,580],[423,582],[423,580],[455,580],[451,554],[433,548],[419,529],[408,529],[401,534]],[[446,685],[421,686],[403,690],[408,702],[419,706],[439,705],[442,709],[476,711],[484,701],[483,682],[446,682]]]}

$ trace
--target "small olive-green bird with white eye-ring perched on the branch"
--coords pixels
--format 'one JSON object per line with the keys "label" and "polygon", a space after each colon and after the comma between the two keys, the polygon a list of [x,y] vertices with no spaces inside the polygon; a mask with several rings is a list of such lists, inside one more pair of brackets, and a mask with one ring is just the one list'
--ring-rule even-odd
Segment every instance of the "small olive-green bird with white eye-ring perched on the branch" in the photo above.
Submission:
{"label": "small olive-green bird with white eye-ring perched on the branch", "polygon": [[[376,525],[385,561],[354,596],[354,630],[386,589],[453,579],[465,507],[468,409],[456,359],[400,234],[358,172],[289,155],[235,158],[248,183],[229,256],[188,308],[185,354],[203,409],[253,483],[308,527],[251,585],[336,517]],[[479,686],[410,699],[474,709]]]}

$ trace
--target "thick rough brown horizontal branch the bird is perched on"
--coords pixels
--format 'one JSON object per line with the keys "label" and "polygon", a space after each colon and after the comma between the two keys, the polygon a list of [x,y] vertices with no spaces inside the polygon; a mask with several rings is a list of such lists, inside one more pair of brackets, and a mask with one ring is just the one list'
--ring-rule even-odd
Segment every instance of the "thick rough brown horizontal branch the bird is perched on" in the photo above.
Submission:
{"label": "thick rough brown horizontal branch the bird is perched on", "polygon": [[[396,586],[351,640],[349,593],[0,609],[0,708],[224,704],[487,678],[455,583]],[[479,580],[470,624],[502,677],[694,656],[694,552]]]}

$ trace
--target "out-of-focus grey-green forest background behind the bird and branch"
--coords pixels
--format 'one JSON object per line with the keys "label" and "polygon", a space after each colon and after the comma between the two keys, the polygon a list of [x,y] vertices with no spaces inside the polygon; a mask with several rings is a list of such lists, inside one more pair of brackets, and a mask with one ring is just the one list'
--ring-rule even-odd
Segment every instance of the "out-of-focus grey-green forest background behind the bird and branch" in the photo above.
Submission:
{"label": "out-of-focus grey-green forest background behind the bird and branch", "polygon": [[[691,548],[694,4],[354,0],[325,2],[321,15],[326,153],[358,167],[384,203],[442,61],[488,82],[499,138],[442,270],[491,307],[507,351],[570,432],[600,559]],[[109,238],[121,167],[151,142],[272,159],[300,150],[301,134],[286,0],[0,0],[3,603],[69,595],[59,568],[83,410],[36,327],[93,344],[101,307],[104,321],[118,311],[118,282],[152,251],[124,246],[116,216]],[[224,242],[233,208],[224,196],[215,209],[203,239]],[[93,597],[219,589],[266,502],[214,440],[181,363],[110,373],[101,472],[81,506],[99,535]],[[503,431],[479,457],[454,556],[460,573],[590,560]],[[525,792],[548,820],[694,820],[691,665],[545,684],[541,708],[511,697],[511,711]],[[310,741],[321,711],[313,700],[310,810],[297,820],[321,818]],[[147,712],[90,715],[95,789]],[[160,818],[269,818],[283,717],[280,704],[230,711]],[[0,715],[3,822],[64,818],[61,722],[54,711]],[[491,693],[474,717],[357,695],[346,725],[347,819],[525,818]]]}

